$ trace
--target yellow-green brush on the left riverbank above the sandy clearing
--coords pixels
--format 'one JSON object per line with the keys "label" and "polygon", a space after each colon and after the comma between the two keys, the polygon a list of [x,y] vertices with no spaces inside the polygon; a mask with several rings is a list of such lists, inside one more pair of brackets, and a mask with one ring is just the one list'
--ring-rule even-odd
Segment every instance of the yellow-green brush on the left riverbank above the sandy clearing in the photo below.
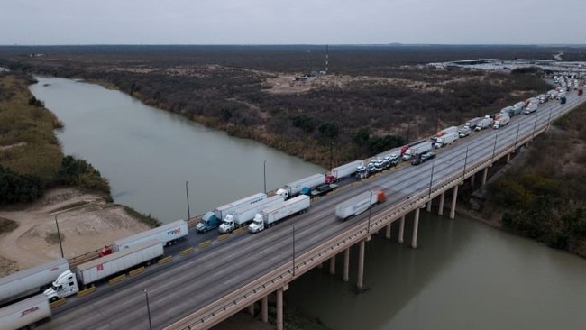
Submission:
{"label": "yellow-green brush on the left riverbank above the sandy clearing", "polygon": [[99,171],[64,157],[54,133],[62,124],[32,96],[32,83],[22,73],[0,72],[0,205],[32,202],[56,186],[109,194]]}

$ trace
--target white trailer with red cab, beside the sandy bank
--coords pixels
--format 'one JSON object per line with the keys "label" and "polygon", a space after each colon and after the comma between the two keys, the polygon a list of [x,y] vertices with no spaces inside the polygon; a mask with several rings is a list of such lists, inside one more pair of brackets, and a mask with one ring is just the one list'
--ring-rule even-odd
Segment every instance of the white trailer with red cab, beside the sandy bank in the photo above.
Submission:
{"label": "white trailer with red cab, beside the sandy bank", "polygon": [[177,220],[170,224],[161,225],[160,227],[117,240],[112,244],[112,247],[114,252],[118,252],[151,239],[158,240],[163,246],[172,245],[187,235],[188,223],[185,220]]}

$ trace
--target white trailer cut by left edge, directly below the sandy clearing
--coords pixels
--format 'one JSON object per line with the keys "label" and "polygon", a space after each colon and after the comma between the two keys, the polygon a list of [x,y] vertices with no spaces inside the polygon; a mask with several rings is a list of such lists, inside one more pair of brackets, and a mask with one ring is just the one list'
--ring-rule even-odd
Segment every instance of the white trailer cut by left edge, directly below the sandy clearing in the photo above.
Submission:
{"label": "white trailer cut by left edge, directly below the sandy clearing", "polygon": [[65,270],[69,262],[61,258],[0,278],[0,304],[42,292]]}

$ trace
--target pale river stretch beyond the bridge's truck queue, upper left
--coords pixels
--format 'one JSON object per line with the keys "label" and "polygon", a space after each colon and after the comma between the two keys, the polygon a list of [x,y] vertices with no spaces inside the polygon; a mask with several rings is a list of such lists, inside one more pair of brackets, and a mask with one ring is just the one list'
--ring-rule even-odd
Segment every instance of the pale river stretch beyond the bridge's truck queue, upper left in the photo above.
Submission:
{"label": "pale river stretch beyond the bridge's truck queue, upper left", "polygon": [[116,90],[64,78],[36,79],[32,94],[65,124],[57,132],[63,152],[99,170],[110,181],[114,202],[163,223],[263,192],[265,172],[270,191],[325,171]]}

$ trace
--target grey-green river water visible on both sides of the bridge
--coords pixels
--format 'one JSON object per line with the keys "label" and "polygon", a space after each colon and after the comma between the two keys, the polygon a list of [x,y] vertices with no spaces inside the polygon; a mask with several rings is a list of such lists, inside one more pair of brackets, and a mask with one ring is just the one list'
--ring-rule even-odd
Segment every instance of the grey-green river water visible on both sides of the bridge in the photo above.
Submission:
{"label": "grey-green river water visible on both sides of the bridge", "polygon": [[[62,78],[38,78],[34,96],[65,124],[66,154],[110,180],[114,200],[164,222],[322,172],[259,143],[206,129],[142,105],[117,91]],[[435,210],[436,212],[436,210]],[[586,262],[456,216],[422,212],[417,250],[374,235],[367,243],[364,285],[356,294],[356,249],[350,282],[336,270],[311,270],[294,281],[286,302],[334,330],[582,329]]]}

